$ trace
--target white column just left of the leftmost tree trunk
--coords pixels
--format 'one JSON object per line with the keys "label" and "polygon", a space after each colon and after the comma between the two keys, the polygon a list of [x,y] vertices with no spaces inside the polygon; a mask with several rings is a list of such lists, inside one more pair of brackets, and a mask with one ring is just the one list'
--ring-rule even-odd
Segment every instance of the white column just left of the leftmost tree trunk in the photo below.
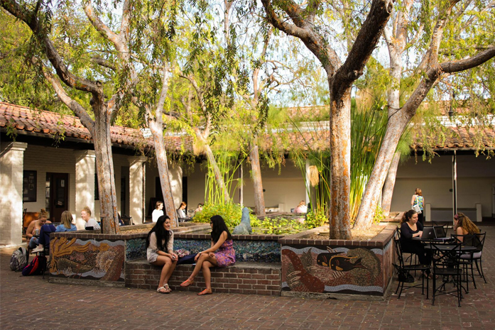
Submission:
{"label": "white column just left of the leftmost tree trunk", "polygon": [[78,230],[85,229],[86,223],[81,218],[83,207],[89,207],[92,211],[92,217],[94,217],[95,165],[94,150],[75,151],[75,214]]}

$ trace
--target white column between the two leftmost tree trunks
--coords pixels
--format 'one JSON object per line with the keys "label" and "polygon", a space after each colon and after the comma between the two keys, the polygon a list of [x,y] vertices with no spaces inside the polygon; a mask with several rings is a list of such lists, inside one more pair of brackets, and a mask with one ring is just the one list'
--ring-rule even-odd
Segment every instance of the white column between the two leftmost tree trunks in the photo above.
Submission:
{"label": "white column between the two leftmost tree trunks", "polygon": [[129,216],[133,224],[142,224],[145,219],[146,203],[144,201],[145,175],[144,162],[147,158],[142,156],[129,157]]}

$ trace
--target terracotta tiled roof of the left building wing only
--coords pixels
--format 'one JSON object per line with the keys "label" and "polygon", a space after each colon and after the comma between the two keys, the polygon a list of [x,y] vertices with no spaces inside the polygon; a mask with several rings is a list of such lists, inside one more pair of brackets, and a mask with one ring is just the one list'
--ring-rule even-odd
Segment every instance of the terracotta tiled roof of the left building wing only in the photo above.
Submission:
{"label": "terracotta tiled roof of the left building wing only", "polygon": [[[42,133],[47,136],[62,134],[67,138],[77,138],[86,141],[91,140],[91,135],[80,119],[76,116],[67,116],[55,112],[33,110],[26,106],[17,106],[0,102],[0,128],[6,128],[10,124],[18,131]],[[135,128],[111,126],[111,143],[114,145],[128,145],[132,147],[152,148],[153,140],[143,138],[141,131]],[[165,148],[169,151],[178,151],[183,144],[183,137],[165,137]],[[185,139],[186,144],[190,141]]]}

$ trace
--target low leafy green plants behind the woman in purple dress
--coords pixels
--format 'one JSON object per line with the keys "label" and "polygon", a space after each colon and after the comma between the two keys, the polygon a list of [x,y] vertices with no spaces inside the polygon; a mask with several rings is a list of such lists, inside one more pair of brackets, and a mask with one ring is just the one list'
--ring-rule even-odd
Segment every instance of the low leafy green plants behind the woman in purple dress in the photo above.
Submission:
{"label": "low leafy green plants behind the woman in purple dress", "polygon": [[[234,229],[235,226],[241,223],[242,207],[239,204],[210,204],[207,203],[203,210],[195,214],[193,221],[208,223],[212,216],[219,215],[224,218],[225,224],[229,229]],[[256,216],[250,214],[251,226],[256,224]]]}

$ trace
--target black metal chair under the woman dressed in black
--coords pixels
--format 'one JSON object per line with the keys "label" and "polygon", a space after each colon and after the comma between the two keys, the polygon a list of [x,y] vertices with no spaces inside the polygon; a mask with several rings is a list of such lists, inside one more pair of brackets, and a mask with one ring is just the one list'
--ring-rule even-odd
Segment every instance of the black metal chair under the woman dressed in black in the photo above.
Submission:
{"label": "black metal chair under the woman dressed in black", "polygon": [[[425,294],[425,279],[426,279],[426,299],[428,299],[428,276],[425,275],[425,271],[430,269],[430,265],[422,265],[422,264],[411,264],[411,265],[405,265],[404,264],[404,258],[402,255],[402,249],[401,249],[401,241],[400,239],[394,237],[393,238],[393,245],[395,246],[396,249],[396,255],[397,255],[397,260],[398,264],[393,263],[393,267],[396,268],[397,271],[397,276],[398,276],[398,285],[396,289],[396,294],[401,288],[401,291],[398,294],[397,299],[401,299],[402,291],[403,290],[408,290],[413,287],[421,287],[421,295]],[[417,285],[408,285],[406,288],[404,288],[404,283],[414,283],[415,278],[413,275],[410,274],[410,272],[415,272],[419,270],[422,272],[422,278],[421,278],[421,284]]]}

